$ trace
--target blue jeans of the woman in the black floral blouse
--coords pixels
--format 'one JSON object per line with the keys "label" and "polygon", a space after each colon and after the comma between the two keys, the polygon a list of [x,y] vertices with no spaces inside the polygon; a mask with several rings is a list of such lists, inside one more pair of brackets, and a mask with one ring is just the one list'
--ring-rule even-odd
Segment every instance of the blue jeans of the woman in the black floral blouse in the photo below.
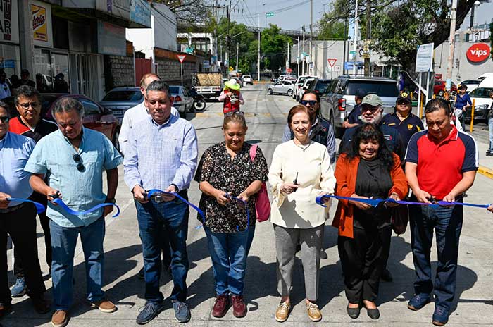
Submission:
{"label": "blue jeans of the woman in the black floral blouse", "polygon": [[205,228],[217,295],[243,295],[250,230],[214,233]]}

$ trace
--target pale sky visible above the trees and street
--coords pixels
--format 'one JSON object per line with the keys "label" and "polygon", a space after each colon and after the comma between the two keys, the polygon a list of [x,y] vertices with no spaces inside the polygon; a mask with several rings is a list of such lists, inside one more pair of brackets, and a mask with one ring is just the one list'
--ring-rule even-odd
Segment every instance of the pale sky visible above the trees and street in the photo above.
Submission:
{"label": "pale sky visible above the trees and street", "polygon": [[[332,0],[313,0],[313,29],[316,30],[316,21],[322,17],[324,10],[328,10],[328,4]],[[480,4],[476,13],[476,23],[490,23],[493,18],[493,0],[489,3]],[[229,0],[218,0],[220,6],[229,4]],[[267,18],[267,24],[273,23],[284,30],[301,30],[301,26],[306,26],[309,31],[310,26],[310,1],[309,0],[231,0],[232,8],[235,9],[231,14],[232,20],[237,23],[244,23],[248,26],[257,26],[260,22],[261,27],[266,26],[266,12],[273,12],[273,17]],[[221,14],[221,11],[220,11]],[[225,13],[224,13],[225,15]],[[461,30],[465,30],[470,23],[468,15],[464,20]],[[350,35],[352,36],[352,29]]]}

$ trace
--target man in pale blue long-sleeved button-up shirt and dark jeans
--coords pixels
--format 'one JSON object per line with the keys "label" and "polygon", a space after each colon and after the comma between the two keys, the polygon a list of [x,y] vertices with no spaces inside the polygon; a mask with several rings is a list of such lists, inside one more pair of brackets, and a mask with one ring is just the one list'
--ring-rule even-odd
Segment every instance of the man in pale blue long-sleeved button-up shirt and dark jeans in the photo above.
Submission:
{"label": "man in pale blue long-sleeved button-up shirt and dark jeans", "polygon": [[125,183],[134,194],[144,255],[146,305],[137,316],[137,323],[148,323],[164,309],[164,297],[159,291],[163,226],[172,248],[171,300],[175,318],[187,322],[190,319],[185,303],[188,206],[173,195],[156,195],[148,201],[146,190],[178,192],[187,198],[197,163],[196,133],[191,123],[170,114],[170,90],[166,82],[151,82],[144,101],[150,116],[132,127],[124,161]]}

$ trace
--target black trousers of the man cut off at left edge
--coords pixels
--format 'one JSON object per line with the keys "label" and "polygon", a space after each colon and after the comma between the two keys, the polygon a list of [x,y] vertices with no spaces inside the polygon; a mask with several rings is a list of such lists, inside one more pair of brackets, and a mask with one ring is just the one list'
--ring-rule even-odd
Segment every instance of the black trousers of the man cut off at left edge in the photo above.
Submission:
{"label": "black trousers of the man cut off at left edge", "polygon": [[37,257],[36,209],[33,204],[25,204],[15,211],[0,212],[0,303],[12,300],[7,277],[7,233],[23,261],[27,295],[42,296],[46,288]]}

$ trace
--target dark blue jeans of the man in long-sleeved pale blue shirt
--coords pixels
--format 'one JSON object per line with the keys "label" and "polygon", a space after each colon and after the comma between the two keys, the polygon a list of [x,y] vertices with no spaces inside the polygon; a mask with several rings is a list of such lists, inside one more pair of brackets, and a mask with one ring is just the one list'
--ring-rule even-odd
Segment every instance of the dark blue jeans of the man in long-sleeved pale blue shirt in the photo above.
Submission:
{"label": "dark blue jeans of the man in long-sleeved pale blue shirt", "polygon": [[[182,194],[180,194],[182,195]],[[187,195],[182,195],[187,199]],[[173,273],[173,291],[171,300],[187,300],[187,235],[188,205],[179,199],[170,202],[136,202],[139,235],[144,255],[144,280],[146,281],[145,299],[148,302],[161,303],[163,293],[159,291],[161,278],[161,250],[167,233],[171,247],[171,272]],[[164,228],[163,228],[164,227]]]}

